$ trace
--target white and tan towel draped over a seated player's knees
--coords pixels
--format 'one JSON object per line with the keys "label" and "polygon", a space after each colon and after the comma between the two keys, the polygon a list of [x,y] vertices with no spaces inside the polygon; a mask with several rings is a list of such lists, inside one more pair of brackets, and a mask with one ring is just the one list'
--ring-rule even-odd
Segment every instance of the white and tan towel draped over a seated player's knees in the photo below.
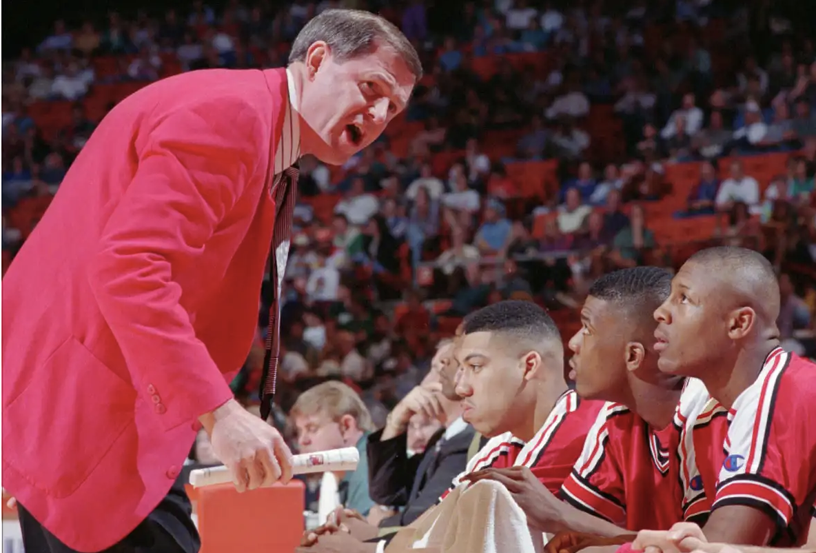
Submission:
{"label": "white and tan towel draped over a seated player's knees", "polygon": [[412,524],[414,549],[440,553],[541,553],[544,536],[502,484],[482,480],[455,488],[428,517]]}

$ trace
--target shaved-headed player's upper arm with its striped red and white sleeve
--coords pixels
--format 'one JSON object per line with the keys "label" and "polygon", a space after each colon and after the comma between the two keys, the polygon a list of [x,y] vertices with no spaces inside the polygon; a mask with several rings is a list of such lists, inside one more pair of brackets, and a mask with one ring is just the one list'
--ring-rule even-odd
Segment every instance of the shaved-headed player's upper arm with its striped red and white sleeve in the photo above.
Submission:
{"label": "shaved-headed player's upper arm with its striped red and white sleeve", "polygon": [[[810,515],[813,504],[816,429],[809,424],[809,415],[816,388],[799,376],[803,367],[797,365],[804,362],[790,356],[778,354],[769,362],[778,362],[778,368],[767,372],[763,386],[747,390],[747,403],[731,421],[728,457],[720,470],[712,514],[703,527],[709,542],[766,546],[772,541],[801,545],[807,540],[802,509],[806,506]],[[770,391],[765,393],[766,389]]]}

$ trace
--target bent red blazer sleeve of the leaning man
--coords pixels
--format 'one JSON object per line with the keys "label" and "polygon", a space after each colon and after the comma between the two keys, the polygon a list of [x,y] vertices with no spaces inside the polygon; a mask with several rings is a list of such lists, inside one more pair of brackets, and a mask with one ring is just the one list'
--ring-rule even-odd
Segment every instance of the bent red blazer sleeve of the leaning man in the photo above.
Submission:
{"label": "bent red blazer sleeve of the leaning man", "polygon": [[174,275],[197,260],[263,170],[256,167],[258,146],[267,140],[255,110],[237,100],[208,104],[171,114],[146,136],[135,177],[88,266],[134,386],[148,404],[162,397],[166,429],[233,397],[195,335]]}

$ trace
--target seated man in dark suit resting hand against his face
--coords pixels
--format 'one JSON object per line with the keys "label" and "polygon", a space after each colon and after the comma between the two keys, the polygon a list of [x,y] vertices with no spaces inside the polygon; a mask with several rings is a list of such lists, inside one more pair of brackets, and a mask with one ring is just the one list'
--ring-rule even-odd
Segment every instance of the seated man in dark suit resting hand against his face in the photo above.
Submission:
{"label": "seated man in dark suit resting hand against his face", "polygon": [[[475,430],[461,417],[451,346],[451,341],[440,343],[428,377],[397,404],[384,429],[370,435],[366,451],[371,499],[399,509],[379,520],[379,528],[406,526],[416,520],[436,504],[468,462]],[[424,453],[408,457],[407,428],[415,413],[436,418],[442,427],[432,435]]]}

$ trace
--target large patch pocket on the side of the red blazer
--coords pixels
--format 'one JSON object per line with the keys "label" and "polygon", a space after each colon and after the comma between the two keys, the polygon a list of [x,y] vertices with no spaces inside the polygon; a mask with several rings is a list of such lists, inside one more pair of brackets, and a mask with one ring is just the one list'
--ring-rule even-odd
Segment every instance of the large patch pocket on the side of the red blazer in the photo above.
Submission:
{"label": "large patch pocket on the side of the red blazer", "polygon": [[135,390],[70,337],[6,407],[3,457],[51,497],[68,497],[134,419]]}

